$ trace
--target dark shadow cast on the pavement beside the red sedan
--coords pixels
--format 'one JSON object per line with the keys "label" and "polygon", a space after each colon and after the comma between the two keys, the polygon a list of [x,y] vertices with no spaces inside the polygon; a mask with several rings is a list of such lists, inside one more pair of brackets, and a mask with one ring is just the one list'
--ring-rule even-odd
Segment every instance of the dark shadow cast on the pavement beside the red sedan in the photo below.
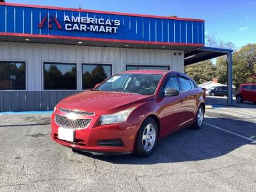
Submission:
{"label": "dark shadow cast on the pavement beside the red sedan", "polygon": [[[207,118],[205,118],[207,120]],[[239,124],[240,120],[229,120],[232,124]],[[244,123],[244,122],[243,122]],[[248,127],[255,123],[248,122]],[[256,135],[256,132],[255,132]],[[199,161],[224,156],[243,145],[255,145],[248,140],[233,136],[226,132],[218,131],[211,127],[200,130],[191,128],[183,129],[159,140],[151,156],[140,158],[132,155],[125,156],[93,156],[79,152],[84,156],[108,161],[115,164],[157,164],[175,163],[186,161]]]}

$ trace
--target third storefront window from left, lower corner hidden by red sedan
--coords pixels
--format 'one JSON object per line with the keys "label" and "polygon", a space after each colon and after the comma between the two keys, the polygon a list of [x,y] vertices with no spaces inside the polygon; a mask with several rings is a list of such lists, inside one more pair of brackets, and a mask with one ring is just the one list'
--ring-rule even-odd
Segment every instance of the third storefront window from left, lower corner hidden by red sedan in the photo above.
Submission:
{"label": "third storefront window from left, lower corner hidden by red sedan", "polygon": [[107,64],[83,64],[83,90],[92,89],[95,84],[101,83],[111,76],[111,65]]}

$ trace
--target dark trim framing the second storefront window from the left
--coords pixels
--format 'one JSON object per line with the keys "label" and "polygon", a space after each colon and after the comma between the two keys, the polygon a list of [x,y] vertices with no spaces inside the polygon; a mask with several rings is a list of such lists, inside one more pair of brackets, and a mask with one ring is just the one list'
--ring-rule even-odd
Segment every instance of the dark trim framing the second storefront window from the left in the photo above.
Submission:
{"label": "dark trim framing the second storefront window from the left", "polygon": [[[78,67],[77,67],[77,63],[76,62],[68,62],[68,61],[60,61],[60,62],[58,62],[58,61],[43,61],[42,62],[43,63],[43,70],[42,70],[42,90],[43,91],[77,91],[78,90],[78,84],[77,84],[77,78],[78,78],[78,71],[77,71],[77,69],[78,69]],[[45,66],[45,64],[61,64],[61,65],[76,65],[76,89],[74,89],[74,90],[52,90],[52,89],[45,89],[45,87],[44,87],[44,66]]]}

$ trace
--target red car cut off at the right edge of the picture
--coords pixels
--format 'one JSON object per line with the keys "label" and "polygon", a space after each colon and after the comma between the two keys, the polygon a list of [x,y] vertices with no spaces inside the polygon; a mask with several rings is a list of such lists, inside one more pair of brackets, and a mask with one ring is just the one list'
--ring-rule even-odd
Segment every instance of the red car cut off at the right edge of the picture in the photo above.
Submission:
{"label": "red car cut off at the right edge of the picture", "polygon": [[256,103],[256,83],[240,84],[236,101],[243,102],[244,100]]}

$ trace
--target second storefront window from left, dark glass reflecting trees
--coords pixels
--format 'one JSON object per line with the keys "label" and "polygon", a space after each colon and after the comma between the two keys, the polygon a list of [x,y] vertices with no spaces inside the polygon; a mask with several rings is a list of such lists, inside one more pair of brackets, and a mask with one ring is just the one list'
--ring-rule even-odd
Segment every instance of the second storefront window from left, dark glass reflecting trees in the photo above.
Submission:
{"label": "second storefront window from left, dark glass reflecting trees", "polygon": [[76,63],[44,63],[44,90],[76,89]]}

